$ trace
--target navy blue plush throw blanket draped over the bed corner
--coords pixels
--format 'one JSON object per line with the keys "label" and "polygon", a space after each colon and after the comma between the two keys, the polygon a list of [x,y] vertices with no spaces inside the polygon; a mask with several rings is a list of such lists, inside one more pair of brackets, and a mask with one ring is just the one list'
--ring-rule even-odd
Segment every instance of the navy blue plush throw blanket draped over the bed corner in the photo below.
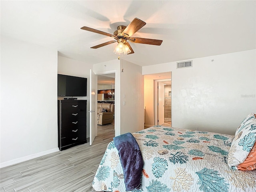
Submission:
{"label": "navy blue plush throw blanket draped over the bed corner", "polygon": [[124,171],[126,191],[140,188],[143,159],[138,143],[131,133],[126,133],[114,137],[114,144]]}

